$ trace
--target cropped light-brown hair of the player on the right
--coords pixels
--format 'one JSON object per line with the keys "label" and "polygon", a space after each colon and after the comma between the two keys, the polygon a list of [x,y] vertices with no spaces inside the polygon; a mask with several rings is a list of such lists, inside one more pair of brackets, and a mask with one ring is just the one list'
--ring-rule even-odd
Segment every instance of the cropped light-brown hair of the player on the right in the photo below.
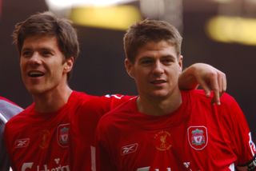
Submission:
{"label": "cropped light-brown hair of the player on the right", "polygon": [[143,20],[137,22],[126,31],[123,38],[126,58],[130,62],[135,61],[138,49],[147,42],[170,42],[177,51],[177,55],[181,54],[182,36],[178,30],[168,22],[158,20]]}

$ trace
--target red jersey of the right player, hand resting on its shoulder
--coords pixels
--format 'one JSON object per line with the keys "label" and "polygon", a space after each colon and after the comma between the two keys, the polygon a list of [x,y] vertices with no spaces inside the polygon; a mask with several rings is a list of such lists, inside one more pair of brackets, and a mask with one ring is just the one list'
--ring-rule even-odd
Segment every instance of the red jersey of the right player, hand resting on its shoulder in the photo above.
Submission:
{"label": "red jersey of the right player, hand resting on its shoulder", "polygon": [[200,90],[182,92],[174,113],[150,116],[138,112],[136,99],[99,121],[100,170],[180,171],[234,170],[254,167],[255,146],[242,110],[223,94],[212,105]]}

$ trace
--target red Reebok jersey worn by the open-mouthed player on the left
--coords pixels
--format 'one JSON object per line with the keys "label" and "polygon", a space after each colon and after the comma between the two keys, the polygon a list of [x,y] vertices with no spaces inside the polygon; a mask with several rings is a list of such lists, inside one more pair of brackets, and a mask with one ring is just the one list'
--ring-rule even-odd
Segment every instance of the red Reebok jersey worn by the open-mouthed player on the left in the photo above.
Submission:
{"label": "red Reebok jersey worn by the open-mouthed player on the left", "polygon": [[72,92],[54,113],[34,104],[6,124],[5,141],[14,170],[95,170],[95,129],[104,113],[127,101]]}

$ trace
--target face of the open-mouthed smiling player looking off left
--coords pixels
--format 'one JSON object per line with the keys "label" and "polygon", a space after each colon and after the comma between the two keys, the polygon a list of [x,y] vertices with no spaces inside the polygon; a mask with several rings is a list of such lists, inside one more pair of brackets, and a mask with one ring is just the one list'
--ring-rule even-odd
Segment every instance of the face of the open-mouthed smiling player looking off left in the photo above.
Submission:
{"label": "face of the open-mouthed smiling player looking off left", "polygon": [[30,36],[20,55],[22,81],[34,95],[62,88],[73,62],[74,58],[65,59],[54,36]]}

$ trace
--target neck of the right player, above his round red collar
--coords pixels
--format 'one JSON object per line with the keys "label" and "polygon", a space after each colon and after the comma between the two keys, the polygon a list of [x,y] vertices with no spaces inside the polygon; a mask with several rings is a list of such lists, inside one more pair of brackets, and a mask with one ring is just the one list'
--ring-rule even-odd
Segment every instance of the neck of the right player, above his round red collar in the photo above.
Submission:
{"label": "neck of the right player, above his round red collar", "polygon": [[154,116],[162,116],[174,112],[182,105],[182,94],[178,90],[166,99],[157,99],[155,97],[141,97],[137,99],[138,111]]}

